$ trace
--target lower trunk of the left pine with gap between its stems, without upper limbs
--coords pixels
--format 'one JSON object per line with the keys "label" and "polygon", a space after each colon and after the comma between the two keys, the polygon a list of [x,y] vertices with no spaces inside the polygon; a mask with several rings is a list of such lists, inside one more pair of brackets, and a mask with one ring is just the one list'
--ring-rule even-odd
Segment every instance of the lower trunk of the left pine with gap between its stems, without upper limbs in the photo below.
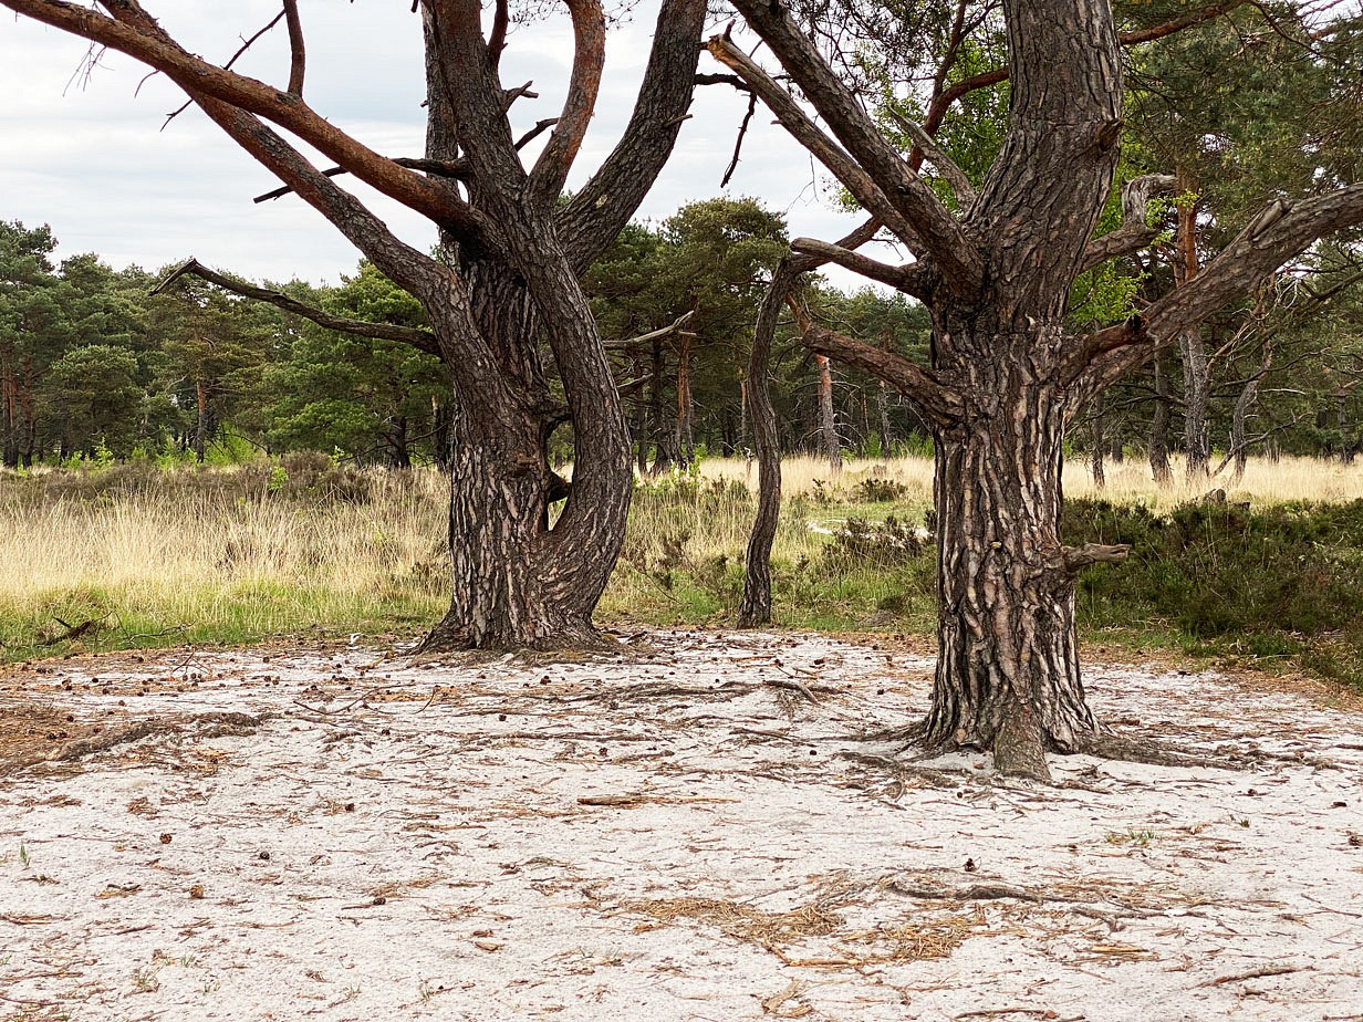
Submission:
{"label": "lower trunk of the left pine with gap between its stems, without upper limbs", "polygon": [[[477,330],[496,368],[446,358],[454,392],[453,593],[425,651],[602,643],[592,615],[624,541],[634,486],[630,429],[596,320],[567,262],[527,270],[542,277],[532,281],[465,258],[461,275],[472,305],[429,308],[438,338]],[[541,338],[555,352],[568,409],[545,380]],[[567,488],[548,461],[549,437],[564,420],[574,427]],[[551,527],[549,506],[564,497]]]}

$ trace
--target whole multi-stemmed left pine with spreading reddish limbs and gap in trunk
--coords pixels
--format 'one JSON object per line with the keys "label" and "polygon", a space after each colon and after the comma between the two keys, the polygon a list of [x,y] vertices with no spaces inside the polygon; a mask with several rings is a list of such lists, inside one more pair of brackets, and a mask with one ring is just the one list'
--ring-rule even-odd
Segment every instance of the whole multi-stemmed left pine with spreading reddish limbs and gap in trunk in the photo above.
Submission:
{"label": "whole multi-stemmed left pine with spreading reddish limbs and gap in trunk", "polygon": [[[600,0],[564,1],[574,37],[567,97],[556,119],[518,134],[511,110],[530,84],[502,82],[510,0],[496,0],[487,20],[478,0],[417,0],[425,153],[390,157],[305,99],[309,55],[297,0],[284,0],[277,18],[290,42],[282,86],[189,53],[136,0],[4,0],[168,76],[284,191],[421,303],[429,330],[382,335],[439,356],[454,392],[453,598],[427,640],[431,650],[597,642],[592,613],[624,536],[630,433],[578,279],[628,222],[672,150],[695,83],[705,0],[664,0],[628,125],[571,196],[564,184],[600,93],[607,19]],[[545,132],[538,155],[526,159],[526,144]],[[335,166],[315,165],[298,143]],[[342,187],[342,173],[425,217],[439,229],[438,253],[395,237]],[[363,323],[349,328],[365,332]],[[572,429],[574,474],[551,526],[549,504],[563,493],[547,448],[562,425]]]}

